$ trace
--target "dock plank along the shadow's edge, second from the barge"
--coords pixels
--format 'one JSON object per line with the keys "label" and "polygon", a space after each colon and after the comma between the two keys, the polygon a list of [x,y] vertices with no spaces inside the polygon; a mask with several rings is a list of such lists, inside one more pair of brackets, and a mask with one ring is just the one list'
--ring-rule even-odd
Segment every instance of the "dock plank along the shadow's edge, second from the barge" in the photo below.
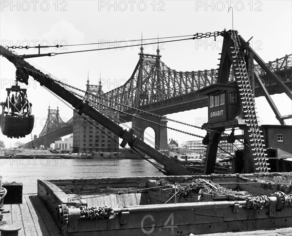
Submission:
{"label": "dock plank along the shadow's edge, second from the barge", "polygon": [[[31,214],[36,225],[38,235],[42,236],[50,236],[50,232],[48,231],[46,224],[42,218],[41,213],[39,212],[36,203],[32,200],[34,196],[29,196],[26,199],[27,205],[31,210]],[[35,196],[36,197],[36,196]]]}

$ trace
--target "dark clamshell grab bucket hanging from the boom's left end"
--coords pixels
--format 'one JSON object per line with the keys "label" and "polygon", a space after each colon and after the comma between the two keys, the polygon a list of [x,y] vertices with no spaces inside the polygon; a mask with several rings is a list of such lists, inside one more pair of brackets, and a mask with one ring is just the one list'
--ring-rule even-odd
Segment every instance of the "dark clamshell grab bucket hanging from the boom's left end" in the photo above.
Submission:
{"label": "dark clamshell grab bucket hanging from the boom's left end", "polygon": [[19,138],[29,135],[33,128],[35,117],[32,115],[32,104],[27,100],[26,89],[18,84],[6,88],[7,98],[1,102],[0,127],[3,135]]}

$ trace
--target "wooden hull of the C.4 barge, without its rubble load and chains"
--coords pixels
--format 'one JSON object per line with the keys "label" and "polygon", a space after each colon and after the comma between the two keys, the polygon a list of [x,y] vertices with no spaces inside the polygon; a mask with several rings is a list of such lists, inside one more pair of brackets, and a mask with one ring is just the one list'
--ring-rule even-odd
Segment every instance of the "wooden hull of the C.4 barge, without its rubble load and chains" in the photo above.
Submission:
{"label": "wooden hull of the C.4 barge, without its rubble load and chains", "polygon": [[[266,194],[273,193],[276,182],[291,180],[291,173],[245,174],[245,175],[210,175],[210,176],[156,176],[156,177],[125,177],[100,178],[84,180],[38,180],[38,196],[48,208],[62,235],[64,236],[183,236],[190,234],[209,234],[219,232],[252,231],[269,228],[291,227],[292,204],[278,207],[278,200],[271,196],[269,205],[249,208],[246,201],[209,201],[184,202],[167,204],[149,204],[146,188],[149,179],[167,180],[176,183],[192,183],[199,177],[212,179],[213,183],[231,186],[244,185],[250,187],[255,194],[262,189]],[[233,180],[232,182],[230,180]],[[213,185],[213,184],[211,184]],[[214,185],[215,186],[215,185]],[[216,187],[216,186],[215,186]],[[237,186],[238,187],[238,186]],[[119,192],[119,189],[121,192]],[[141,194],[139,205],[121,205],[116,195],[129,192]],[[144,194],[144,196],[142,196]],[[75,198],[74,198],[75,196]],[[82,197],[83,196],[83,197]],[[104,219],[82,219],[80,206],[92,207],[91,199],[107,196],[113,214]],[[87,199],[85,201],[85,199]],[[148,201],[151,203],[151,200]],[[68,219],[58,218],[60,206],[66,209]],[[100,204],[99,204],[100,206]]]}

